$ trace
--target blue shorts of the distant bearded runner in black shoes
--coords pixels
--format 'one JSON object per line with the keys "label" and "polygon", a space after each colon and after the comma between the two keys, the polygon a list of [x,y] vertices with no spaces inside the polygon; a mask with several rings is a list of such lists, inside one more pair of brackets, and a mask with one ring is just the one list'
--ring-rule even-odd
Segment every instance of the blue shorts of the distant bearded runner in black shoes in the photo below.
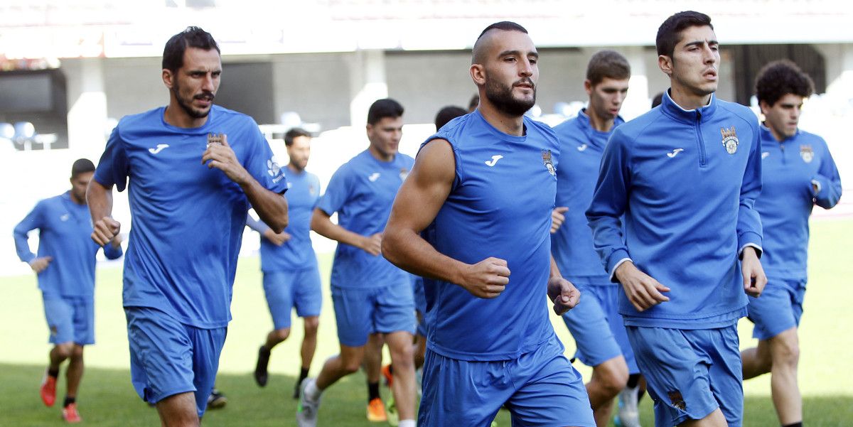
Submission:
{"label": "blue shorts of the distant bearded runner in black shoes", "polygon": [[299,317],[318,316],[322,306],[320,271],[306,268],[266,272],[264,294],[275,329],[290,327],[290,312],[294,307]]}

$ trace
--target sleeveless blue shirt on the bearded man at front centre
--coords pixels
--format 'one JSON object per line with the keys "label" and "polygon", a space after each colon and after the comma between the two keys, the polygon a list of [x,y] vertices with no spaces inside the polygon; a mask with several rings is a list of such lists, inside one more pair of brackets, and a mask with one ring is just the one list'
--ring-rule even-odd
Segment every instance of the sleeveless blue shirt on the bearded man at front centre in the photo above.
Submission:
{"label": "sleeveless blue shirt on the bearded man at front centre", "polygon": [[496,298],[424,279],[427,346],[466,361],[516,359],[554,337],[548,320],[551,211],[560,143],[546,124],[524,118],[525,136],[496,130],[478,111],[431,136],[450,142],[456,178],[422,236],[462,263],[507,261],[509,284]]}

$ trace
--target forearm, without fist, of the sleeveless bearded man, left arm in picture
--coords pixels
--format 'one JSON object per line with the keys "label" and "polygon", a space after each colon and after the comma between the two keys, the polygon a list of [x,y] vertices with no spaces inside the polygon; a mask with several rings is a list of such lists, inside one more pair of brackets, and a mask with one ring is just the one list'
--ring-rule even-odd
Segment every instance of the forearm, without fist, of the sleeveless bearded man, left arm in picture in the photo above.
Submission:
{"label": "forearm, without fist, of the sleeveless bearded man, left arm in picture", "polygon": [[413,230],[386,228],[382,234],[382,256],[411,274],[463,285],[471,266],[436,251]]}

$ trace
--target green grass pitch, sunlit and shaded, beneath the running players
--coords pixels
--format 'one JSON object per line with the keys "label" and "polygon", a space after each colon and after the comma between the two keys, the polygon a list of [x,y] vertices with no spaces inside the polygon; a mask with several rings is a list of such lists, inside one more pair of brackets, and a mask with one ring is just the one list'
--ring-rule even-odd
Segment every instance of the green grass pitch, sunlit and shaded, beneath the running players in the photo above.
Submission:
{"label": "green grass pitch, sunlit and shaded, beneath the running players", "polygon": [[[853,325],[850,311],[853,263],[850,242],[853,221],[834,220],[812,224],[809,292],[800,329],[801,359],[799,381],[804,395],[804,421],[809,426],[853,425]],[[329,257],[321,257],[322,271],[328,281]],[[38,397],[38,383],[47,363],[49,344],[41,296],[32,275],[0,280],[9,298],[0,310],[0,426],[49,426],[61,424],[60,410],[46,408]],[[316,375],[328,356],[338,352],[334,314],[324,286],[324,311],[320,342],[312,366]],[[544,302],[544,298],[543,298]],[[218,388],[229,397],[228,406],[207,413],[207,426],[291,426],[296,402],[290,395],[299,372],[299,320],[293,334],[273,351],[271,378],[266,388],[254,384],[258,345],[271,327],[264,302],[258,259],[241,258],[232,304],[234,321],[220,361]],[[98,271],[96,295],[97,344],[86,348],[87,370],[78,395],[84,425],[123,426],[158,425],[154,409],[142,403],[130,384],[125,317],[121,309],[121,270]],[[571,355],[574,342],[562,321],[552,315],[554,327]],[[741,323],[741,346],[755,345],[751,324]],[[386,358],[387,360],[387,358]],[[577,366],[584,376],[586,366]],[[775,411],[769,397],[769,376],[744,384],[746,392],[745,425],[774,427]],[[59,399],[64,393],[60,381]],[[383,396],[390,392],[382,390]],[[362,373],[344,378],[323,395],[319,424],[322,426],[370,426],[364,418],[367,391]],[[653,425],[649,399],[641,401],[641,421]],[[508,413],[498,414],[502,427],[510,425]]]}

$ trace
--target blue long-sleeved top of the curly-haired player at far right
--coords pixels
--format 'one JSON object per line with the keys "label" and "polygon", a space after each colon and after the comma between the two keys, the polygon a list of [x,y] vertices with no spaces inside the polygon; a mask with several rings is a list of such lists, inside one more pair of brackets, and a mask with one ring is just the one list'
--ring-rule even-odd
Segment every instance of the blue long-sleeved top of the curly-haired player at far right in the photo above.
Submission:
{"label": "blue long-sleeved top of the curly-haired player at far right", "polygon": [[[764,228],[764,273],[784,280],[806,280],[809,216],[814,205],[832,208],[841,197],[841,177],[827,143],[815,134],[776,141],[761,127],[763,188],[755,201]],[[819,190],[815,193],[812,185]]]}

